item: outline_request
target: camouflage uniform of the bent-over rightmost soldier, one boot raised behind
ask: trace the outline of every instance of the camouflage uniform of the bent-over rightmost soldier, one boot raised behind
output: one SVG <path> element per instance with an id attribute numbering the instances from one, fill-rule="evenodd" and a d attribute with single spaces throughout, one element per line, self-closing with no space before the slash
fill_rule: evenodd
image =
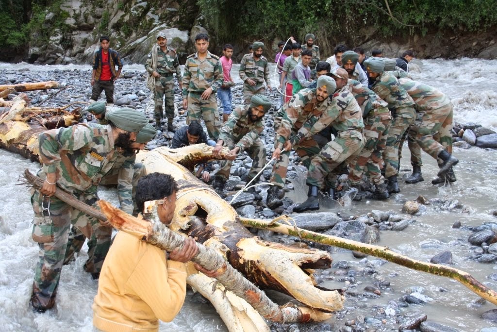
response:
<path id="1" fill-rule="evenodd" d="M 400 79 L 399 82 L 413 98 L 415 108 L 420 113 L 411 126 L 411 136 L 415 137 L 414 150 L 419 151 L 419 146 L 428 155 L 437 159 L 438 154 L 446 150 L 452 154 L 452 116 L 453 107 L 450 99 L 437 89 L 423 83 L 415 82 L 408 78 Z M 418 145 L 416 149 L 416 145 Z M 420 154 L 415 157 L 419 158 Z"/>

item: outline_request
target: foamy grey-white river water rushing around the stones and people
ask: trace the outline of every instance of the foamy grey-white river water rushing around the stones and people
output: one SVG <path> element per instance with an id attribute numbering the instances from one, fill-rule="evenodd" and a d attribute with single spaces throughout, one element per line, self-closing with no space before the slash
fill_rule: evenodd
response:
<path id="1" fill-rule="evenodd" d="M 39 72 L 54 69 L 90 71 L 89 65 L 0 64 L 1 70 L 23 68 Z M 455 106 L 456 121 L 478 122 L 484 126 L 497 127 L 496 60 L 415 60 L 412 68 L 415 80 L 435 86 L 450 96 Z M 126 70 L 143 71 L 143 66 L 125 66 L 124 71 Z M 238 66 L 234 66 L 235 80 L 238 80 L 237 70 Z M 468 208 L 467 211 L 448 212 L 428 206 L 424 215 L 413 217 L 416 222 L 406 230 L 382 231 L 379 245 L 424 261 L 429 261 L 434 254 L 442 250 L 450 250 L 454 267 L 470 272 L 478 280 L 487 282 L 491 288 L 497 290 L 497 283 L 486 278 L 497 272 L 497 265 L 477 263 L 468 259 L 472 250 L 466 239 L 472 232 L 451 227 L 456 221 L 471 226 L 497 221 L 496 217 L 491 215 L 491 212 L 497 209 L 497 151 L 455 148 L 454 155 L 460 159 L 460 163 L 455 167 L 458 181 L 452 186 L 435 187 L 430 184 L 430 180 L 436 176 L 437 167 L 424 153 L 422 171 L 425 181 L 414 185 L 406 185 L 400 181 L 400 186 L 402 194 L 408 199 L 415 199 L 420 194 L 428 199 L 457 199 Z M 411 167 L 409 157 L 409 150 L 405 148 L 401 168 Z M 0 207 L 0 331 L 92 331 L 91 305 L 97 282 L 91 280 L 82 268 L 86 259 L 86 247 L 76 262 L 64 266 L 62 270 L 56 309 L 45 314 L 33 314 L 29 310 L 28 302 L 34 266 L 38 259 L 38 247 L 31 240 L 33 213 L 29 192 L 24 186 L 17 185 L 17 179 L 25 168 L 35 171 L 39 165 L 4 150 L 0 150 L 0 163 L 3 166 L 0 169 L 0 197 L 3 203 Z M 410 172 L 401 172 L 401 175 L 405 173 Z M 299 192 L 303 190 L 301 186 L 297 188 Z M 99 195 L 116 202 L 113 190 L 100 191 Z M 400 213 L 402 203 L 394 199 L 382 202 L 353 202 L 350 207 L 340 212 L 343 215 L 359 215 L 372 209 Z M 354 267 L 363 267 L 359 264 L 359 259 L 352 258 L 350 253 L 333 254 L 333 259 L 354 261 L 355 263 L 351 263 Z M 426 288 L 425 294 L 434 301 L 404 308 L 403 315 L 426 313 L 428 320 L 461 331 L 479 332 L 484 327 L 497 327 L 497 324 L 480 318 L 483 312 L 496 309 L 496 306 L 486 303 L 479 308 L 469 307 L 478 297 L 458 282 L 412 271 L 394 263 L 386 263 L 377 267 L 377 270 L 380 272 L 379 278 L 391 282 L 393 292 L 384 291 L 379 299 L 368 300 L 365 302 L 365 308 L 351 310 L 346 318 L 354 319 L 357 315 L 372 316 L 373 306 L 386 307 L 389 300 L 397 300 L 403 295 L 401 290 L 410 286 L 423 286 Z M 366 285 L 368 284 L 359 285 L 358 290 L 362 290 Z M 338 283 L 337 286 L 343 287 L 344 284 Z M 447 291 L 440 292 L 440 287 Z M 333 322 L 332 320 L 330 323 Z M 196 303 L 189 294 L 180 314 L 172 323 L 162 323 L 161 331 L 227 330 L 211 305 Z"/>

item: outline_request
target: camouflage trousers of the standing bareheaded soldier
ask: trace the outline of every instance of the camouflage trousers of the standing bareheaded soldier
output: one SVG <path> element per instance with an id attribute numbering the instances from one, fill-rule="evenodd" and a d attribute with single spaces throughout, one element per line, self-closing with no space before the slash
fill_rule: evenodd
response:
<path id="1" fill-rule="evenodd" d="M 221 121 L 219 120 L 219 110 L 217 108 L 216 94 L 211 93 L 208 99 L 200 98 L 200 93 L 188 92 L 188 112 L 186 114 L 186 124 L 204 119 L 207 133 L 213 141 L 217 141 L 221 131 Z"/>

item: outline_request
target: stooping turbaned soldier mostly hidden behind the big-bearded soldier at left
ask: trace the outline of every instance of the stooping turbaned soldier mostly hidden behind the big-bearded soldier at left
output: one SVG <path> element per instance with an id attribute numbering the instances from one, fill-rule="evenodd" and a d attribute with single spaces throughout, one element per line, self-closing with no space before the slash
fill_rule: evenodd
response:
<path id="1" fill-rule="evenodd" d="M 132 215 L 134 211 L 134 188 L 140 177 L 145 175 L 145 167 L 141 163 L 136 163 L 136 154 L 143 150 L 147 142 L 156 135 L 157 130 L 151 124 L 146 124 L 136 135 L 136 141 L 131 144 L 130 149 L 119 154 L 112 169 L 100 181 L 100 184 L 103 185 L 117 184 L 117 197 L 121 210 L 128 214 Z M 64 265 L 69 264 L 74 259 L 76 252 L 80 252 L 85 240 L 83 232 L 73 226 L 69 234 Z M 95 246 L 94 239 L 88 243 L 88 256 L 93 255 Z"/>

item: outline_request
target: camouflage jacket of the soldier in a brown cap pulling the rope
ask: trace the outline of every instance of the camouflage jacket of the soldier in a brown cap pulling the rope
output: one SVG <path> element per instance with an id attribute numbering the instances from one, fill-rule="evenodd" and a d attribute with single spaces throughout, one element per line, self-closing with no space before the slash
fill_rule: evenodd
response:
<path id="1" fill-rule="evenodd" d="M 300 128 L 297 136 L 299 139 L 313 137 L 329 125 L 338 132 L 364 128 L 361 108 L 347 86 L 335 91 L 331 98 L 331 104 L 323 114 L 321 116 L 313 115 Z"/>

